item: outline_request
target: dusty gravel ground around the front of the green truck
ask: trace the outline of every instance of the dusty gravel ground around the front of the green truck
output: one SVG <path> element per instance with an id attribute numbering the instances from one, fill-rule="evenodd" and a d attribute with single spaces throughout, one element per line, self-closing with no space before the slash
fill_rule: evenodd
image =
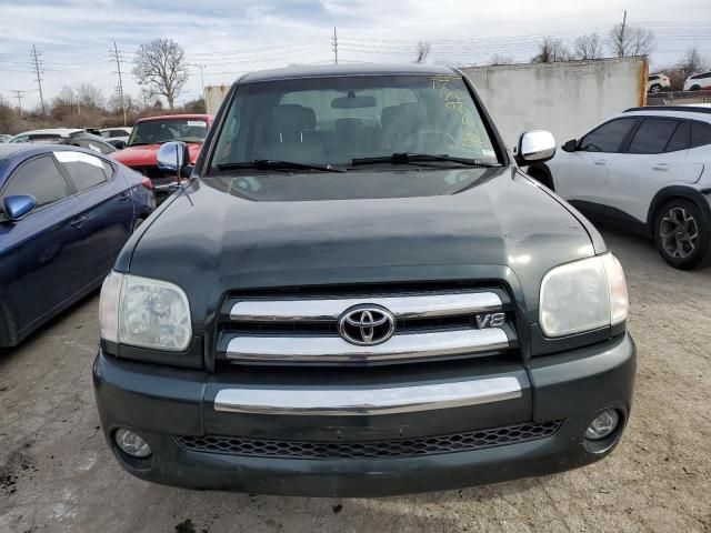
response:
<path id="1" fill-rule="evenodd" d="M 99 429 L 98 296 L 0 352 L 0 532 L 711 530 L 711 269 L 668 268 L 605 232 L 630 283 L 634 409 L 607 460 L 561 475 L 380 500 L 262 497 L 151 485 Z"/>

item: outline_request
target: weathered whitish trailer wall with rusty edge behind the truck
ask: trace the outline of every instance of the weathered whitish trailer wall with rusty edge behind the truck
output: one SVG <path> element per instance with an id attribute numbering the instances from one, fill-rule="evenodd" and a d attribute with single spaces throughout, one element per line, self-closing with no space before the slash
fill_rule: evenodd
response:
<path id="1" fill-rule="evenodd" d="M 624 109 L 647 102 L 644 58 L 464 67 L 509 148 L 525 130 L 559 144 Z"/>

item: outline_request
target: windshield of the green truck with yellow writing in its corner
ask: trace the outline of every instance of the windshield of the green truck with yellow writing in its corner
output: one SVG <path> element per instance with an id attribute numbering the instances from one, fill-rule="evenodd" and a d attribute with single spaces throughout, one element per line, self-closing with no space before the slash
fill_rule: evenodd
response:
<path id="1" fill-rule="evenodd" d="M 240 86 L 211 170 L 264 160 L 348 168 L 378 158 L 373 163 L 397 164 L 402 159 L 389 157 L 404 153 L 500 163 L 461 77 L 353 76 Z"/>

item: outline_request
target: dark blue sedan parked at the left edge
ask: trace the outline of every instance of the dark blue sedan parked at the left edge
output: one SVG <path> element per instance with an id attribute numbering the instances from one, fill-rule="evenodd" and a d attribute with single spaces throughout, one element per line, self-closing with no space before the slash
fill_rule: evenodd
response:
<path id="1" fill-rule="evenodd" d="M 156 200 L 94 151 L 0 144 L 0 346 L 12 346 L 101 285 Z"/>

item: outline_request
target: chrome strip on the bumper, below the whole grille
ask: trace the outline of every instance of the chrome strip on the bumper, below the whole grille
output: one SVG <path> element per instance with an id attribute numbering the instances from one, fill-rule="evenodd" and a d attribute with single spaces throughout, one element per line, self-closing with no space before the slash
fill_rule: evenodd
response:
<path id="1" fill-rule="evenodd" d="M 521 383 L 513 376 L 391 389 L 222 389 L 214 399 L 214 410 L 343 416 L 462 408 L 521 396 Z"/>

